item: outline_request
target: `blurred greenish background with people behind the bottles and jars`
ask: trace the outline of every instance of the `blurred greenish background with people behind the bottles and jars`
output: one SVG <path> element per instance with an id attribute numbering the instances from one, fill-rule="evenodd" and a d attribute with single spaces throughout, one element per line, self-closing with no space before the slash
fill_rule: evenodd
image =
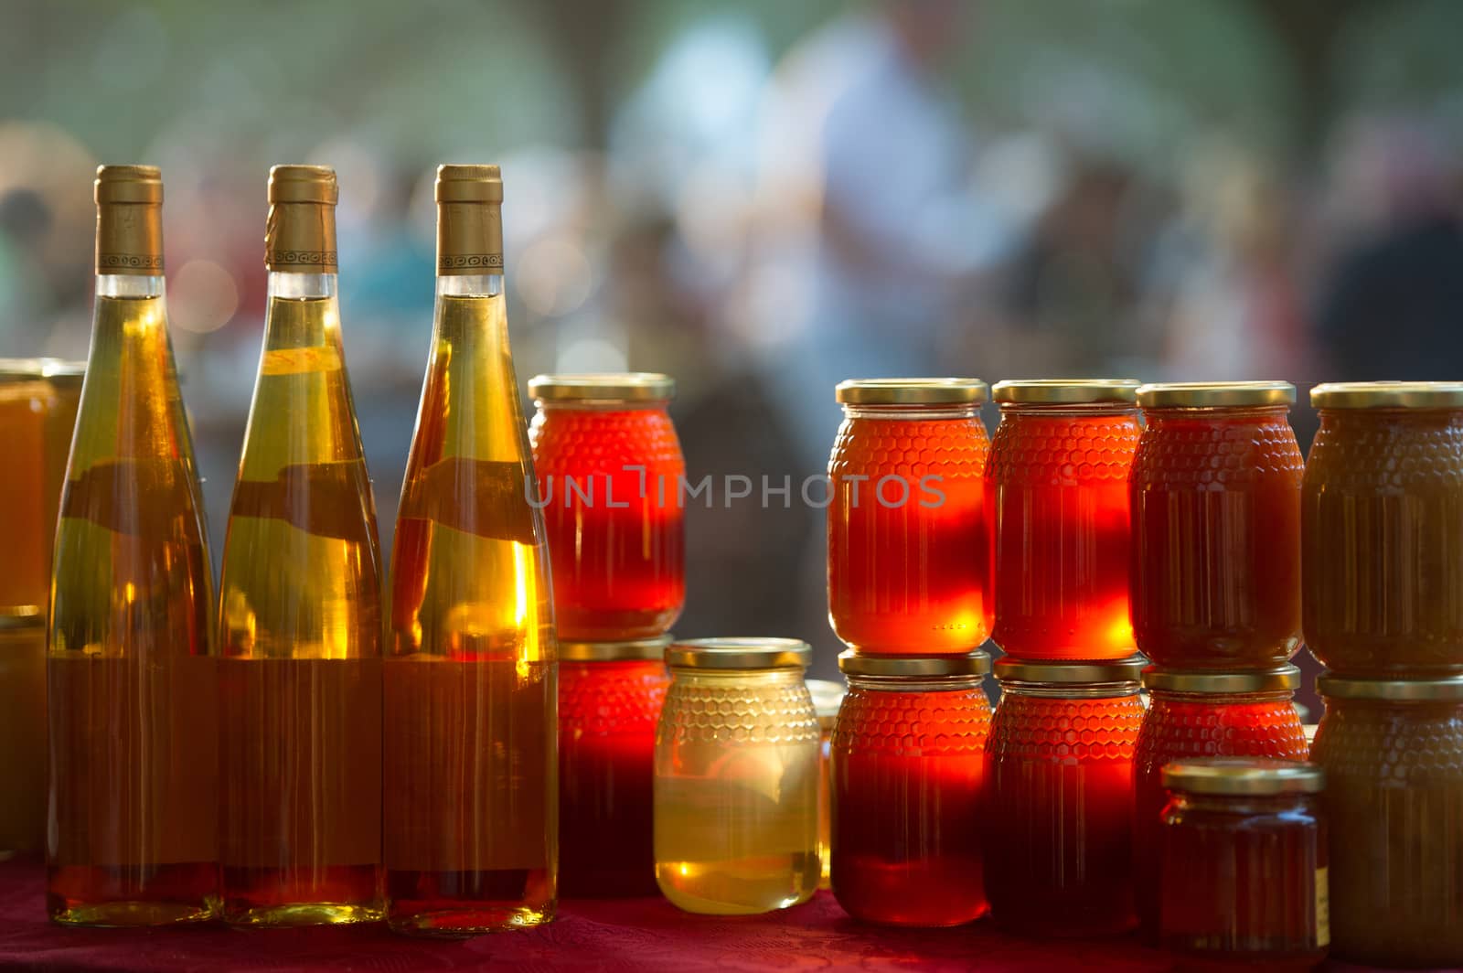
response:
<path id="1" fill-rule="evenodd" d="M 268 167 L 334 165 L 389 544 L 433 170 L 492 161 L 519 379 L 669 372 L 692 480 L 822 470 L 843 377 L 1456 379 L 1459 37 L 1453 0 L 3 0 L 0 354 L 85 357 L 94 168 L 161 165 L 218 556 Z M 756 500 L 688 512 L 676 631 L 830 673 L 822 514 Z"/>

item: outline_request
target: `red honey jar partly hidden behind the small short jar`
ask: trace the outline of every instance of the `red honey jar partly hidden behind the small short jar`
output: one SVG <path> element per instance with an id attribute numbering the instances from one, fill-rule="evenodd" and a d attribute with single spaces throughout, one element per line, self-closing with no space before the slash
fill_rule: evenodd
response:
<path id="1" fill-rule="evenodd" d="M 1167 793 L 1163 767 L 1208 756 L 1304 761 L 1305 729 L 1295 708 L 1295 666 L 1245 673 L 1143 672 L 1148 708 L 1134 761 L 1132 876 L 1143 932 L 1159 931 L 1159 821 Z"/>

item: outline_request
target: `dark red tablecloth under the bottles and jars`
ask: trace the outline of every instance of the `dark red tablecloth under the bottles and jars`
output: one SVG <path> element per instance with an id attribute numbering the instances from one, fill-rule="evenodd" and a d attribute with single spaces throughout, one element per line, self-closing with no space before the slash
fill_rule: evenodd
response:
<path id="1" fill-rule="evenodd" d="M 989 922 L 960 929 L 860 925 L 828 893 L 768 916 L 688 916 L 660 898 L 566 901 L 538 929 L 467 941 L 408 939 L 380 926 L 237 932 L 61 929 L 45 919 L 35 862 L 0 865 L 0 966 L 38 970 L 1166 970 L 1131 938 L 1028 942 Z"/>

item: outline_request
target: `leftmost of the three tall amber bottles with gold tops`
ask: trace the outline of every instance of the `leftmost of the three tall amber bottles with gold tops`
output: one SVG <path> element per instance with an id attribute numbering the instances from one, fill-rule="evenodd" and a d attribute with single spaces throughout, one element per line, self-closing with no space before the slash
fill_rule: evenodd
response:
<path id="1" fill-rule="evenodd" d="M 162 179 L 102 165 L 97 315 L 51 578 L 56 922 L 165 925 L 217 910 L 218 658 L 202 514 L 162 297 Z"/>

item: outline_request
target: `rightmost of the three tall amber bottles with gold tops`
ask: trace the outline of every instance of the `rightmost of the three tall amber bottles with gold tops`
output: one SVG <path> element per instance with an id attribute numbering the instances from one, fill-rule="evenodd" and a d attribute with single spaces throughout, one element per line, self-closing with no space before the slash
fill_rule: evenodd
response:
<path id="1" fill-rule="evenodd" d="M 392 549 L 386 920 L 553 917 L 557 653 L 503 309 L 496 165 L 437 170 L 437 303 Z"/>

